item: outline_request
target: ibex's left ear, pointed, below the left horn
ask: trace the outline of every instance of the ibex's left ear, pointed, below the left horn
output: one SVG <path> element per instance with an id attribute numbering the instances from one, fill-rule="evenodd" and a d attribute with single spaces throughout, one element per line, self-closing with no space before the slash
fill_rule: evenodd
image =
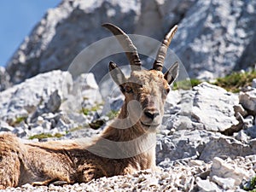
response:
<path id="1" fill-rule="evenodd" d="M 119 85 L 119 88 L 122 91 L 122 93 L 125 93 L 124 84 L 126 82 L 126 78 L 124 73 L 113 61 L 109 62 L 108 68 L 113 81 Z"/>

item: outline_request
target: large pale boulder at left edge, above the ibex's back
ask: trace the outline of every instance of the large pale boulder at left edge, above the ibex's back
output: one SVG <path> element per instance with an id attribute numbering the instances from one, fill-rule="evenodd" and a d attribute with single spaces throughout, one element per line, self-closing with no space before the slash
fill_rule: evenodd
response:
<path id="1" fill-rule="evenodd" d="M 26 79 L 0 93 L 0 119 L 15 121 L 16 117 L 26 117 L 41 103 L 49 101 L 56 90 L 65 99 L 72 87 L 73 80 L 67 72 L 52 71 Z"/>

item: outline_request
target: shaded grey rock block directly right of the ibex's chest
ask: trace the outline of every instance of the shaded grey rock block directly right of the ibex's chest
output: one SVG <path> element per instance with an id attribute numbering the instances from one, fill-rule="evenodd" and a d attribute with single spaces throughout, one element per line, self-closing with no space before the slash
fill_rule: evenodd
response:
<path id="1" fill-rule="evenodd" d="M 210 131 L 189 131 L 181 130 L 175 131 L 172 135 L 159 136 L 158 143 L 156 145 L 156 160 L 160 166 L 170 167 L 171 160 L 181 160 L 186 158 L 198 158 L 201 156 L 201 160 L 205 160 L 204 157 L 209 157 L 212 160 L 214 151 L 208 151 L 206 155 L 202 153 L 202 150 L 207 143 L 209 143 L 212 137 L 216 136 L 215 133 Z M 212 145 L 211 145 L 212 146 Z M 220 148 L 218 146 L 218 148 Z M 203 151 L 204 152 L 204 151 Z"/>

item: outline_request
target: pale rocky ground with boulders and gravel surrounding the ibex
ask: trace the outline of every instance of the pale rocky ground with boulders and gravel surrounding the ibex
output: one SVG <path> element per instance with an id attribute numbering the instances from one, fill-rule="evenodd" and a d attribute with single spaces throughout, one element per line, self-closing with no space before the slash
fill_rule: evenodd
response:
<path id="1" fill-rule="evenodd" d="M 42 142 L 94 137 L 122 104 L 119 94 L 102 99 L 97 89 L 92 73 L 26 79 L 0 92 L 0 131 Z M 3 191 L 243 191 L 256 172 L 255 106 L 255 87 L 237 94 L 208 83 L 173 90 L 157 133 L 159 172 Z"/>

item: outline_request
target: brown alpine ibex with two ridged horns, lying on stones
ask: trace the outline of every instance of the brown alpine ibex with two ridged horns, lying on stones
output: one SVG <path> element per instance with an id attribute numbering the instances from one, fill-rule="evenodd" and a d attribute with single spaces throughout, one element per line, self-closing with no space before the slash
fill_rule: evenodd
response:
<path id="1" fill-rule="evenodd" d="M 131 76 L 112 61 L 109 71 L 125 96 L 119 116 L 90 144 L 82 141 L 24 143 L 10 133 L 0 135 L 0 189 L 25 183 L 83 183 L 93 178 L 131 174 L 155 167 L 155 132 L 164 113 L 178 63 L 163 74 L 166 51 L 177 26 L 163 40 L 153 68 L 143 70 L 136 47 L 119 27 L 103 24 L 119 41 Z"/>

